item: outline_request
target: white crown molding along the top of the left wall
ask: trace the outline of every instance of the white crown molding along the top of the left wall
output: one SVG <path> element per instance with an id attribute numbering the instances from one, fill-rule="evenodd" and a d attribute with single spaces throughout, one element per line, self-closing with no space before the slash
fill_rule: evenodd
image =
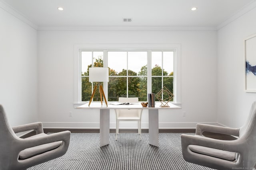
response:
<path id="1" fill-rule="evenodd" d="M 8 12 L 9 14 L 11 14 L 12 16 L 18 18 L 19 20 L 23 21 L 24 23 L 28 24 L 29 26 L 31 26 L 34 29 L 38 29 L 38 26 L 35 25 L 34 23 L 32 23 L 32 21 L 28 20 L 28 18 L 26 18 L 23 14 L 21 14 L 20 12 L 18 12 L 17 10 L 15 10 L 14 8 L 12 8 L 12 6 L 10 6 L 9 4 L 7 4 L 6 2 L 0 0 L 0 8 L 2 8 L 3 10 L 5 10 L 6 12 Z"/>

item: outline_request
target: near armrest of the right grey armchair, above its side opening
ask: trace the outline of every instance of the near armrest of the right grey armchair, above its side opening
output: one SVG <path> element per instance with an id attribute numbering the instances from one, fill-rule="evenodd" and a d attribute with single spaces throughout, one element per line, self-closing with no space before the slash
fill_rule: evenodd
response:
<path id="1" fill-rule="evenodd" d="M 181 135 L 182 148 L 187 148 L 188 145 L 198 145 L 202 147 L 208 147 L 213 149 L 226 150 L 230 152 L 243 153 L 247 149 L 246 143 L 240 139 L 233 141 L 224 141 L 219 139 L 212 139 L 202 136 L 192 136 L 192 135 Z"/>

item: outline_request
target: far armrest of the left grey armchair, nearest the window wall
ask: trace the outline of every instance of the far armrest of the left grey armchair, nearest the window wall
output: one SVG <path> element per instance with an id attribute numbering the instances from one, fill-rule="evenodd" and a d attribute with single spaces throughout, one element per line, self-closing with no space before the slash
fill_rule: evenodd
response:
<path id="1" fill-rule="evenodd" d="M 20 133 L 20 132 L 30 131 L 30 130 L 35 130 L 36 134 L 44 133 L 42 122 L 15 126 L 15 127 L 12 127 L 12 130 L 14 131 L 14 133 Z"/>

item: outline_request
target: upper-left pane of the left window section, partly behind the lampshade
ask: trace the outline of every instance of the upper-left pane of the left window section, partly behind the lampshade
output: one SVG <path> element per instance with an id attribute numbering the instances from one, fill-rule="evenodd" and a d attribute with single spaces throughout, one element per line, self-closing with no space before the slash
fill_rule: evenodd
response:
<path id="1" fill-rule="evenodd" d="M 82 76 L 88 76 L 88 66 L 92 65 L 92 51 L 81 52 Z"/>

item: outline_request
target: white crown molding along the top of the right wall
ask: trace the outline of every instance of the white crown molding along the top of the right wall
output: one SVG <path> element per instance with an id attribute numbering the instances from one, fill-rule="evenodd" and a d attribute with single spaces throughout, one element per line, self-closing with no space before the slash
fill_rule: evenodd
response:
<path id="1" fill-rule="evenodd" d="M 244 6 L 241 10 L 239 10 L 238 12 L 236 12 L 234 15 L 230 16 L 227 20 L 225 20 L 224 22 L 222 22 L 220 25 L 217 26 L 217 30 L 221 29 L 222 27 L 225 27 L 226 25 L 228 25 L 229 23 L 237 20 L 238 18 L 240 18 L 241 16 L 243 16 L 244 14 L 250 12 L 251 10 L 253 10 L 256 7 L 256 0 L 250 2 L 249 4 L 247 4 L 246 6 Z"/>

